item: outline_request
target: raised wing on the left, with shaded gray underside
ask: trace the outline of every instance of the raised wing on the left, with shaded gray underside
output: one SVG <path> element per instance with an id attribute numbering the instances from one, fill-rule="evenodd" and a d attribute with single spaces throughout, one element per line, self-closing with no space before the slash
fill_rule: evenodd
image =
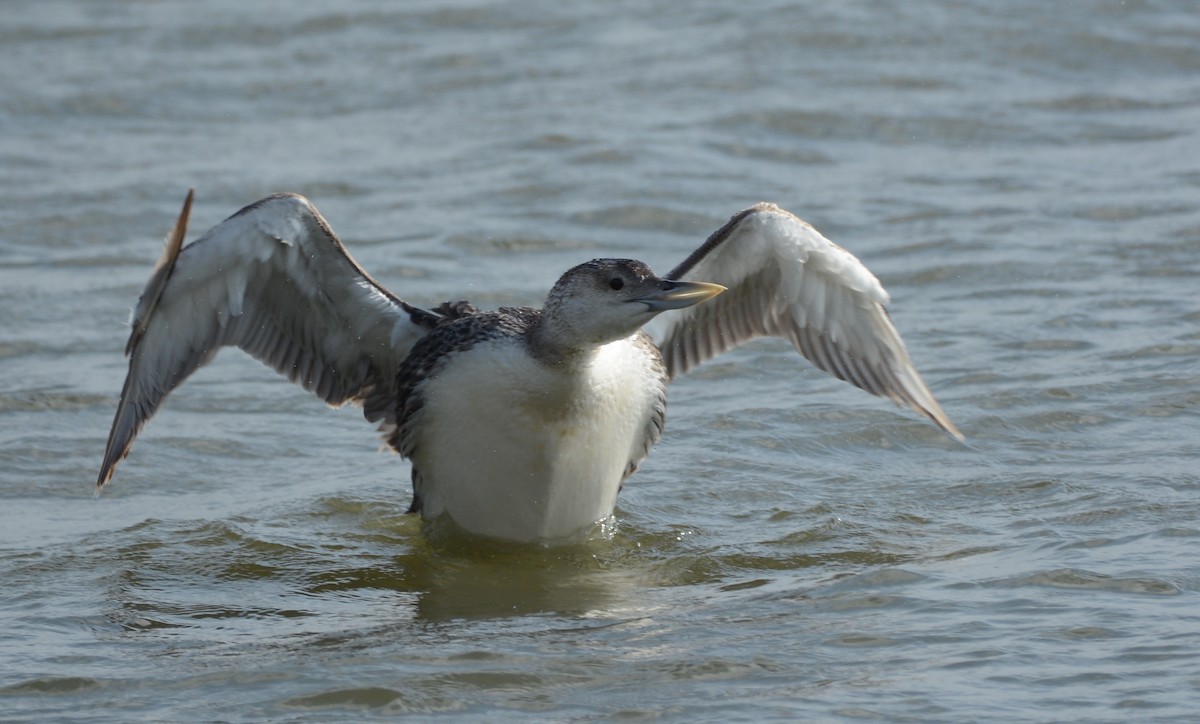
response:
<path id="1" fill-rule="evenodd" d="M 191 203 L 188 191 L 133 311 L 97 490 L 170 390 L 223 346 L 392 425 L 396 370 L 438 321 L 372 280 L 301 196 L 264 198 L 184 247 Z"/>

